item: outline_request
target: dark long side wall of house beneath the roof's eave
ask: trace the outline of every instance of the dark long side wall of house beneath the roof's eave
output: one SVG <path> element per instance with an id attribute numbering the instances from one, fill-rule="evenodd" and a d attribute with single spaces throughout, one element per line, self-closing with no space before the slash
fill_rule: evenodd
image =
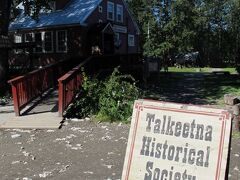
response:
<path id="1" fill-rule="evenodd" d="M 67 52 L 57 52 L 57 31 L 65 30 L 67 32 Z M 62 27 L 62 28 L 48 28 L 48 29 L 35 29 L 35 30 L 24 30 L 18 32 L 22 35 L 22 42 L 25 43 L 25 34 L 27 33 L 39 33 L 39 32 L 52 32 L 53 33 L 53 52 L 35 52 L 33 50 L 32 59 L 33 66 L 45 66 L 74 56 L 85 56 L 86 55 L 86 33 L 87 28 L 81 26 L 74 27 Z M 14 36 L 14 32 L 11 33 Z M 29 62 L 29 53 L 27 49 L 21 50 L 16 53 L 16 50 L 10 52 L 10 65 L 21 66 Z"/>

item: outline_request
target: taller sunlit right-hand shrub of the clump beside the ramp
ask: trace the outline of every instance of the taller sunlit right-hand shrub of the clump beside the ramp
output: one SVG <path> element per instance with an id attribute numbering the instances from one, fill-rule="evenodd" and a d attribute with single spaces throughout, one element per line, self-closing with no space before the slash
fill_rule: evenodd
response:
<path id="1" fill-rule="evenodd" d="M 134 100 L 138 97 L 139 90 L 133 77 L 121 75 L 118 69 L 114 69 L 112 75 L 103 83 L 97 118 L 126 121 L 131 116 Z"/>

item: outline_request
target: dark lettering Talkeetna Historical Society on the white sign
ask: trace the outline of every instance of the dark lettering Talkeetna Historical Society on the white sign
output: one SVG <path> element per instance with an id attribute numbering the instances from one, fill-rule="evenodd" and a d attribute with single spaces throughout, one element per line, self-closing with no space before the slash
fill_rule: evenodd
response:
<path id="1" fill-rule="evenodd" d="M 195 120 L 192 120 L 191 123 L 176 122 L 172 120 L 171 116 L 166 115 L 163 115 L 161 119 L 155 119 L 155 114 L 148 113 L 146 121 L 146 132 L 200 141 L 212 141 L 213 127 L 196 124 Z M 169 144 L 167 140 L 165 142 L 157 142 L 154 137 L 143 136 L 140 155 L 161 158 L 163 160 L 167 159 L 173 162 L 182 162 L 188 165 L 208 167 L 210 147 L 207 146 L 206 149 L 194 149 L 190 148 L 188 143 L 184 146 L 175 146 L 174 144 Z M 187 174 L 186 169 L 182 173 L 174 172 L 174 166 L 172 166 L 170 170 L 155 168 L 153 172 L 153 167 L 154 162 L 148 161 L 146 164 L 145 180 L 159 179 L 160 175 L 160 179 L 168 177 L 168 179 L 196 180 L 196 176 Z"/>

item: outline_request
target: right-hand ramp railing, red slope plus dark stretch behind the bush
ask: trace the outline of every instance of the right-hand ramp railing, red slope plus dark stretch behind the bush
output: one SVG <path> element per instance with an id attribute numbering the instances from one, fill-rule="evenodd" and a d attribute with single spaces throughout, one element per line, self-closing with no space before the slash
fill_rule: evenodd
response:
<path id="1" fill-rule="evenodd" d="M 104 55 L 104 56 L 91 56 L 84 62 L 73 68 L 67 74 L 58 79 L 58 111 L 59 116 L 63 116 L 64 110 L 74 99 L 76 93 L 82 85 L 82 71 L 89 75 L 94 75 L 107 69 L 113 69 L 116 66 L 121 65 L 125 70 L 131 66 L 131 70 L 134 70 L 134 66 L 141 64 L 139 54 L 127 54 L 127 55 Z M 130 70 L 130 69 L 129 69 Z"/>

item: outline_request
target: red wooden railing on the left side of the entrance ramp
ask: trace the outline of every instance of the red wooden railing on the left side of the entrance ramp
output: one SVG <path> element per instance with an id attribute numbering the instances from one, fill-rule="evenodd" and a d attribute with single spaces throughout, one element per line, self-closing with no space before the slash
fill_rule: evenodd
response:
<path id="1" fill-rule="evenodd" d="M 64 73 L 64 63 L 65 61 L 60 61 L 8 81 L 12 87 L 16 116 L 20 116 L 21 109 L 34 98 L 53 87 L 54 84 L 57 84 L 58 77 Z"/>

